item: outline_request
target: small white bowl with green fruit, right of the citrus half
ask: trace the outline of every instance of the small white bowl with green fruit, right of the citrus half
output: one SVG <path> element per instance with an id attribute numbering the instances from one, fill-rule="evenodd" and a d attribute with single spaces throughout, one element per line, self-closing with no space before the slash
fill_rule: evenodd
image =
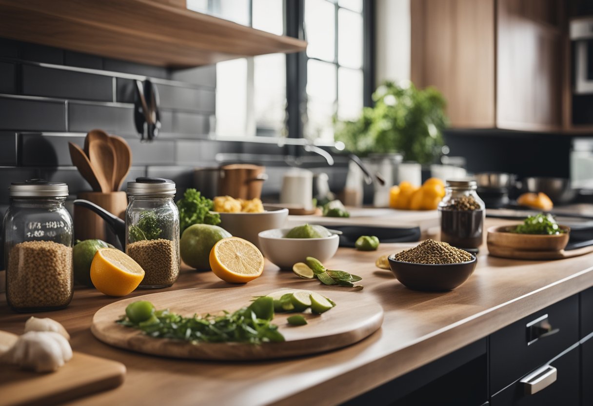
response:
<path id="1" fill-rule="evenodd" d="M 259 233 L 263 256 L 282 269 L 292 269 L 297 262 L 313 256 L 324 262 L 336 255 L 340 239 L 336 234 L 323 238 L 285 238 L 291 229 L 273 229 Z"/>

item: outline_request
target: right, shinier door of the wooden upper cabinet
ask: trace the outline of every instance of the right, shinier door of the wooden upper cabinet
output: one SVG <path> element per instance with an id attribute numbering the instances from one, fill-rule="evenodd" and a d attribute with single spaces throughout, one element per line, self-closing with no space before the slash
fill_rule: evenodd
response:
<path id="1" fill-rule="evenodd" d="M 498 0 L 496 126 L 547 131 L 562 125 L 562 4 Z"/>

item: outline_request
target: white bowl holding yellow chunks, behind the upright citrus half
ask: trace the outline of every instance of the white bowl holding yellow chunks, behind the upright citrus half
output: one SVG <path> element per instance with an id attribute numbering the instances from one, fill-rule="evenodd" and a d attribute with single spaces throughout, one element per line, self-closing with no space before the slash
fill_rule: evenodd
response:
<path id="1" fill-rule="evenodd" d="M 218 226 L 235 237 L 246 239 L 260 248 L 257 234 L 260 231 L 278 229 L 284 226 L 288 218 L 288 209 L 269 210 L 263 213 L 218 213 L 221 223 Z"/>

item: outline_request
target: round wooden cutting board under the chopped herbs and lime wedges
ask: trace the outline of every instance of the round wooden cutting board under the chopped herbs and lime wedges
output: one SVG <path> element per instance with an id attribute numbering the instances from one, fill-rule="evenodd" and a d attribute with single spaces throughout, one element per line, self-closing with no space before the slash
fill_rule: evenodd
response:
<path id="1" fill-rule="evenodd" d="M 282 289 L 287 292 L 294 289 Z M 241 287 L 216 289 L 185 289 L 146 294 L 111 303 L 97 311 L 91 331 L 99 340 L 115 347 L 155 356 L 199 360 L 264 360 L 322 353 L 346 347 L 368 337 L 381 327 L 383 309 L 365 297 L 364 291 L 326 289 L 318 293 L 329 297 L 336 307 L 321 315 L 304 313 L 308 324 L 291 326 L 286 322 L 295 313 L 276 313 L 273 323 L 279 326 L 285 342 L 262 345 L 243 343 L 202 343 L 152 338 L 141 331 L 116 323 L 125 314 L 126 306 L 136 300 L 149 300 L 157 309 L 170 309 L 184 316 L 194 313 L 234 312 L 248 306 L 253 296 L 271 294 L 262 288 Z"/>

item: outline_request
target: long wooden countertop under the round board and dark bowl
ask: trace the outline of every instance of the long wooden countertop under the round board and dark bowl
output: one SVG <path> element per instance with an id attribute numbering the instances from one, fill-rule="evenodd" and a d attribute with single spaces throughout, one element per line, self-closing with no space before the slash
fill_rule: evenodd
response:
<path id="1" fill-rule="evenodd" d="M 508 221 L 487 219 L 487 226 Z M 114 302 L 89 288 L 75 290 L 65 310 L 40 313 L 68 329 L 72 347 L 95 356 L 118 360 L 127 367 L 122 386 L 72 404 L 337 404 L 356 397 L 410 370 L 438 359 L 489 335 L 509 323 L 593 286 L 593 254 L 562 261 L 517 261 L 487 256 L 484 248 L 476 271 L 454 291 L 422 293 L 398 283 L 389 271 L 375 267 L 375 259 L 403 245 L 387 245 L 378 252 L 340 248 L 328 262 L 334 269 L 361 275 L 364 290 L 352 300 L 371 296 L 385 310 L 382 328 L 366 340 L 320 356 L 249 363 L 180 361 L 144 356 L 109 347 L 91 335 L 94 312 Z M 262 277 L 250 283 L 263 291 L 279 286 L 331 291 L 337 287 L 300 280 L 292 272 L 266 265 Z M 189 287 L 228 287 L 211 272 L 185 270 L 169 290 Z M 344 289 L 344 288 L 339 288 Z M 139 296 L 152 293 L 140 290 Z M 0 328 L 21 332 L 30 315 L 12 313 L 0 302 Z M 347 384 L 345 384 L 347 382 Z"/>

